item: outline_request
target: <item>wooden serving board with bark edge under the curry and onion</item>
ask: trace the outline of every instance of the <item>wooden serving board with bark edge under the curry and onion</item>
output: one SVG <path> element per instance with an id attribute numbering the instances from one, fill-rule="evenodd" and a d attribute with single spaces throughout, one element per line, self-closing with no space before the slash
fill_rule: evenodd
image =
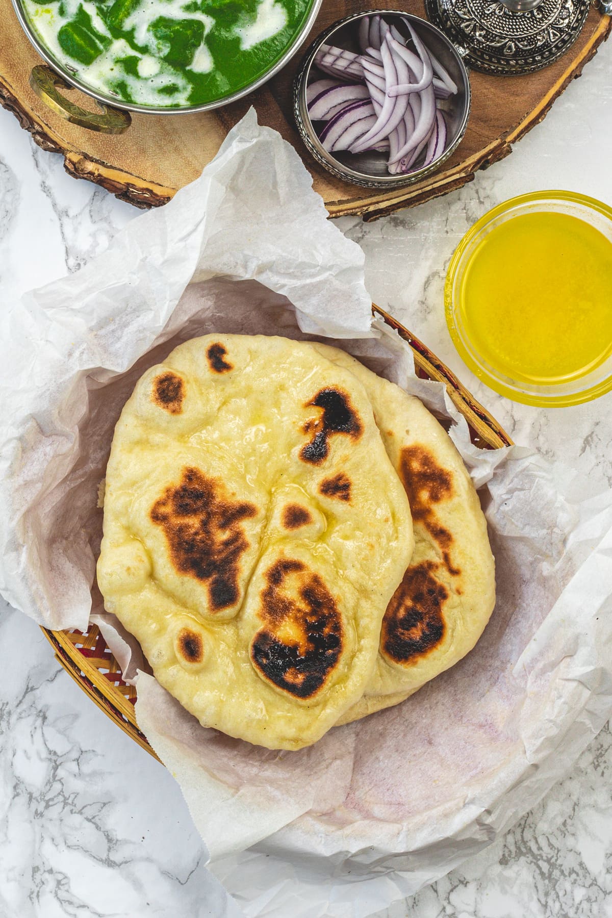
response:
<path id="1" fill-rule="evenodd" d="M 279 130 L 302 156 L 332 217 L 362 214 L 372 220 L 460 188 L 478 169 L 507 156 L 512 144 L 538 124 L 567 84 L 580 76 L 612 28 L 612 18 L 591 7 L 573 48 L 545 70 L 513 77 L 472 72 L 472 114 L 451 159 L 439 173 L 417 185 L 377 191 L 339 181 L 312 159 L 295 129 L 291 100 L 295 72 L 309 41 L 336 19 L 372 6 L 372 0 L 323 0 L 303 48 L 257 92 L 196 115 L 134 115 L 128 131 L 117 137 L 69 124 L 33 93 L 29 73 L 41 59 L 20 28 L 11 0 L 0 0 L 0 103 L 15 113 L 40 147 L 62 153 L 66 170 L 75 178 L 103 185 L 137 207 L 165 204 L 178 188 L 193 181 L 215 156 L 228 130 L 254 105 L 260 123 Z M 425 16 L 422 0 L 401 0 L 389 6 Z M 74 91 L 70 98 L 95 110 L 94 102 L 82 93 Z"/>

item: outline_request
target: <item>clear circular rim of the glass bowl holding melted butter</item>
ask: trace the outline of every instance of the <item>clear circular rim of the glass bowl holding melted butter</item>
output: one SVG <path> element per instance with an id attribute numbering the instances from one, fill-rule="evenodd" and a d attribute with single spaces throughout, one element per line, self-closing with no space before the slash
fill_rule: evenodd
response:
<path id="1" fill-rule="evenodd" d="M 584 402 L 592 401 L 595 398 L 605 395 L 606 392 L 611 391 L 612 373 L 609 373 L 606 378 L 600 380 L 595 385 L 577 389 L 573 392 L 560 393 L 558 391 L 558 386 L 540 386 L 538 391 L 535 391 L 534 386 L 534 391 L 530 391 L 528 384 L 522 384 L 518 381 L 515 385 L 509 385 L 500 379 L 498 375 L 495 375 L 495 371 L 489 371 L 486 368 L 484 365 L 485 362 L 479 357 L 474 347 L 473 350 L 470 350 L 469 347 L 466 346 L 464 336 L 462 336 L 456 321 L 456 310 L 459 306 L 455 294 L 457 275 L 462 270 L 466 255 L 470 251 L 475 239 L 484 229 L 487 229 L 496 218 L 506 216 L 510 211 L 529 204 L 537 204 L 540 202 L 546 204 L 551 201 L 581 205 L 588 210 L 595 211 L 606 218 L 612 229 L 612 207 L 608 207 L 603 201 L 599 201 L 595 197 L 581 195 L 578 192 L 556 189 L 551 191 L 536 191 L 528 195 L 511 197 L 502 204 L 487 211 L 483 217 L 477 220 L 473 226 L 468 229 L 462 241 L 453 252 L 444 285 L 444 312 L 452 342 L 461 356 L 463 363 L 466 364 L 470 370 L 472 370 L 473 374 L 481 379 L 487 386 L 492 388 L 499 395 L 524 405 L 547 408 L 568 408 L 573 405 L 580 405 Z M 576 382 L 579 381 L 577 380 Z M 542 392 L 542 388 L 546 388 L 547 393 Z M 548 394 L 548 390 L 550 390 L 550 395 Z"/>

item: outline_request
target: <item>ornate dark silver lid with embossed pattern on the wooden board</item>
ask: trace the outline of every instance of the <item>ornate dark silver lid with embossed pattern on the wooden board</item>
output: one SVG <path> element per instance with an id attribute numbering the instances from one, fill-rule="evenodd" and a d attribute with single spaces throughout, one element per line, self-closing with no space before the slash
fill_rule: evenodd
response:
<path id="1" fill-rule="evenodd" d="M 580 35 L 589 0 L 425 0 L 425 7 L 474 70 L 510 76 L 557 61 Z"/>

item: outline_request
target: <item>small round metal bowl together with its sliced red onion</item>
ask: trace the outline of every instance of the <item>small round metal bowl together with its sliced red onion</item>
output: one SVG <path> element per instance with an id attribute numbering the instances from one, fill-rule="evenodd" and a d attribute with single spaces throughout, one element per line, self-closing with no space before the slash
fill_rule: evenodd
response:
<path id="1" fill-rule="evenodd" d="M 366 51 L 366 46 L 369 44 L 368 35 L 372 39 L 372 29 L 378 35 L 379 28 L 384 29 L 381 33 L 382 40 L 380 38 L 374 40 L 373 48 Z M 389 33 L 386 36 L 387 40 L 395 39 L 392 44 L 400 55 L 399 58 L 395 58 L 397 68 L 393 62 L 389 65 L 391 72 L 394 73 L 393 84 L 390 84 L 388 78 L 388 60 L 385 60 L 380 54 L 381 50 L 386 50 L 383 45 L 387 32 Z M 334 54 L 336 60 L 333 59 Z M 363 66 L 364 54 L 367 59 L 365 60 L 366 71 L 368 65 L 378 68 L 376 72 L 373 71 L 372 77 L 367 72 L 365 75 L 363 72 L 360 72 L 361 75 L 358 73 L 359 68 Z M 374 59 L 372 55 L 375 56 Z M 417 58 L 420 58 L 420 64 Z M 428 80 L 429 58 L 433 62 L 433 76 L 429 73 Z M 425 59 L 428 59 L 427 64 L 424 63 Z M 410 65 L 404 63 L 405 61 Z M 420 72 L 419 66 L 421 67 Z M 400 73 L 401 68 L 405 68 L 404 79 Z M 369 108 L 369 117 L 361 122 L 362 125 L 369 127 L 369 133 L 362 134 L 361 138 L 353 140 L 352 151 L 351 149 L 338 149 L 341 143 L 337 144 L 335 149 L 330 149 L 330 146 L 333 146 L 328 142 L 330 126 L 325 119 L 315 117 L 321 114 L 320 103 L 319 108 L 313 106 L 313 97 L 314 94 L 317 94 L 317 87 L 320 86 L 325 92 L 326 85 L 323 81 L 327 80 L 328 84 L 331 84 L 334 79 L 337 79 L 339 83 L 344 82 L 347 91 L 349 81 L 352 81 L 352 85 L 356 87 L 353 92 L 359 96 L 354 103 L 349 98 L 348 106 L 345 106 L 348 114 L 345 116 L 344 113 L 341 113 L 343 117 L 356 118 L 357 115 L 361 117 L 362 112 L 368 110 L 366 106 L 370 106 L 371 103 L 373 106 Z M 370 82 L 371 79 L 373 84 Z M 425 119 L 424 130 L 429 129 L 429 140 L 427 138 L 423 140 L 422 130 L 419 133 L 419 112 L 424 111 L 425 106 L 429 105 L 429 96 L 425 98 L 425 95 L 421 95 L 419 90 L 425 86 L 425 94 L 430 94 L 430 98 L 433 99 L 432 84 L 435 87 L 436 96 L 435 118 L 438 118 L 438 123 L 440 123 L 440 142 L 438 144 L 436 143 L 438 135 L 434 133 L 438 130 L 436 123 L 431 129 L 428 119 Z M 370 94 L 376 95 L 367 95 L 365 87 Z M 332 86 L 332 89 L 336 92 L 335 85 Z M 323 98 L 324 96 L 319 95 L 318 97 Z M 411 99 L 413 100 L 410 102 L 412 115 L 408 109 L 408 101 Z M 387 126 L 393 125 L 399 115 L 400 106 L 394 107 L 395 100 L 397 102 L 403 100 L 405 107 L 402 110 L 406 112 L 403 118 L 406 118 L 406 121 L 408 117 L 411 119 L 407 128 L 407 140 L 404 120 L 399 125 L 404 132 L 400 140 L 396 138 L 398 129 L 394 129 L 393 140 L 384 136 L 383 123 L 387 108 L 392 112 L 392 120 L 387 121 Z M 318 36 L 307 50 L 305 61 L 297 74 L 294 86 L 295 121 L 308 151 L 320 165 L 337 178 L 368 188 L 413 185 L 439 169 L 462 141 L 470 115 L 470 104 L 470 78 L 459 51 L 439 28 L 432 26 L 425 19 L 403 13 L 400 10 L 369 10 L 335 22 Z M 417 108 L 415 108 L 416 105 Z M 339 112 L 339 106 L 329 111 L 331 117 L 335 118 Z M 327 117 L 329 113 L 324 114 Z M 433 117 L 433 112 L 431 114 Z M 421 121 L 423 121 L 422 118 Z M 410 149 L 410 125 L 415 139 L 413 149 Z M 423 125 L 421 124 L 420 127 L 422 128 Z M 351 124 L 352 137 L 357 130 L 359 127 Z M 351 137 L 351 133 L 345 134 L 344 137 Z M 372 142 L 376 141 L 375 149 L 360 150 L 360 143 L 362 147 L 364 146 L 363 138 L 366 141 L 368 138 Z M 391 153 L 389 152 L 390 140 Z M 417 140 L 421 142 L 417 143 Z M 402 143 L 404 143 L 403 146 Z M 400 160 L 394 163 L 392 161 L 398 148 L 399 152 L 403 149 L 408 149 L 409 152 L 404 158 L 400 157 Z M 415 153 L 417 153 L 416 156 Z"/>

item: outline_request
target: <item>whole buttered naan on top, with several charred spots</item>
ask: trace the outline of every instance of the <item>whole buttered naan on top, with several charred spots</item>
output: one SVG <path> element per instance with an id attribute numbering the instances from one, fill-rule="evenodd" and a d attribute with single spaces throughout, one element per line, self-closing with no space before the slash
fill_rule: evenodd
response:
<path id="1" fill-rule="evenodd" d="M 362 697 L 414 539 L 349 370 L 283 338 L 186 342 L 123 409 L 104 511 L 106 609 L 202 724 L 299 749 Z"/>

